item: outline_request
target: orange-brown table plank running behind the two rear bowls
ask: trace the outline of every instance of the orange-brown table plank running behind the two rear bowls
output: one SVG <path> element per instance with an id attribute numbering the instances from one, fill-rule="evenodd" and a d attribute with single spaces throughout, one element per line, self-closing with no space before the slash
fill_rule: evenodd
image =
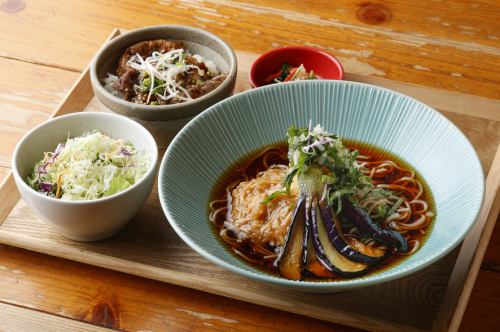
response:
<path id="1" fill-rule="evenodd" d="M 374 6 L 376 14 L 390 13 L 380 25 L 357 17 L 363 5 L 347 0 L 327 6 L 320 0 L 28 1 L 15 15 L 0 13 L 2 31 L 14 31 L 3 36 L 0 54 L 81 71 L 112 28 L 173 23 L 206 29 L 247 52 L 312 45 L 338 56 L 350 72 L 500 96 L 498 2 L 384 2 Z"/>

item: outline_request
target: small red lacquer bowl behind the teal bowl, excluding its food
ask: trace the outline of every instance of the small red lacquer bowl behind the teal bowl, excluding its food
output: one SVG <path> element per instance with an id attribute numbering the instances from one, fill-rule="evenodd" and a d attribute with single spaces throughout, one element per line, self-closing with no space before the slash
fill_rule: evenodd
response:
<path id="1" fill-rule="evenodd" d="M 314 47 L 287 46 L 264 53 L 254 61 L 250 69 L 252 87 L 266 85 L 266 78 L 276 73 L 284 62 L 294 67 L 304 64 L 306 70 L 313 70 L 318 79 L 344 79 L 344 68 L 332 55 Z"/>

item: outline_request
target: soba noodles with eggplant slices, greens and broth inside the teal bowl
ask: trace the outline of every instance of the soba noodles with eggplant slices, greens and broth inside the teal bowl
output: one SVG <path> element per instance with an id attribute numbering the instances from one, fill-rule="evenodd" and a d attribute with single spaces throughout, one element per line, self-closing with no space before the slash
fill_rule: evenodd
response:
<path id="1" fill-rule="evenodd" d="M 237 255 L 288 279 L 337 279 L 418 250 L 434 213 L 413 170 L 319 126 L 288 134 L 214 193 L 210 221 Z"/>

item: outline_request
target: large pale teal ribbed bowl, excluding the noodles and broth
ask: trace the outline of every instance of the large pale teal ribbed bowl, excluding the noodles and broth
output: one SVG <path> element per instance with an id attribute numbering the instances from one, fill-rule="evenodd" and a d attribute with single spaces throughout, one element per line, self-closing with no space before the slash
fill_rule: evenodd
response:
<path id="1" fill-rule="evenodd" d="M 393 152 L 420 172 L 437 210 L 434 227 L 420 250 L 382 272 L 315 283 L 266 274 L 223 247 L 208 221 L 214 183 L 234 161 L 283 141 L 291 124 L 307 126 L 309 119 L 345 138 Z M 392 280 L 436 261 L 471 228 L 483 192 L 483 171 L 474 149 L 444 116 L 405 95 L 346 81 L 278 84 L 219 102 L 175 137 L 159 178 L 160 201 L 170 225 L 199 254 L 249 278 L 315 292 Z"/>

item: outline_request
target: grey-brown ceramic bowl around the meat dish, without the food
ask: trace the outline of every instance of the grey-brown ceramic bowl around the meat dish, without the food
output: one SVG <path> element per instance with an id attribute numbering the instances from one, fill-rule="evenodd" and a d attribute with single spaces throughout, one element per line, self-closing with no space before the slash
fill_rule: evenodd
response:
<path id="1" fill-rule="evenodd" d="M 191 53 L 200 54 L 215 62 L 219 71 L 227 74 L 227 78 L 210 93 L 192 101 L 174 105 L 136 104 L 109 93 L 104 88 L 103 79 L 107 73 L 115 73 L 118 60 L 125 49 L 135 43 L 153 39 L 182 41 Z M 219 37 L 193 27 L 158 25 L 133 30 L 113 38 L 104 45 L 90 65 L 90 79 L 97 98 L 116 113 L 148 121 L 178 121 L 192 118 L 209 106 L 230 96 L 236 83 L 236 69 L 236 54 Z"/>

